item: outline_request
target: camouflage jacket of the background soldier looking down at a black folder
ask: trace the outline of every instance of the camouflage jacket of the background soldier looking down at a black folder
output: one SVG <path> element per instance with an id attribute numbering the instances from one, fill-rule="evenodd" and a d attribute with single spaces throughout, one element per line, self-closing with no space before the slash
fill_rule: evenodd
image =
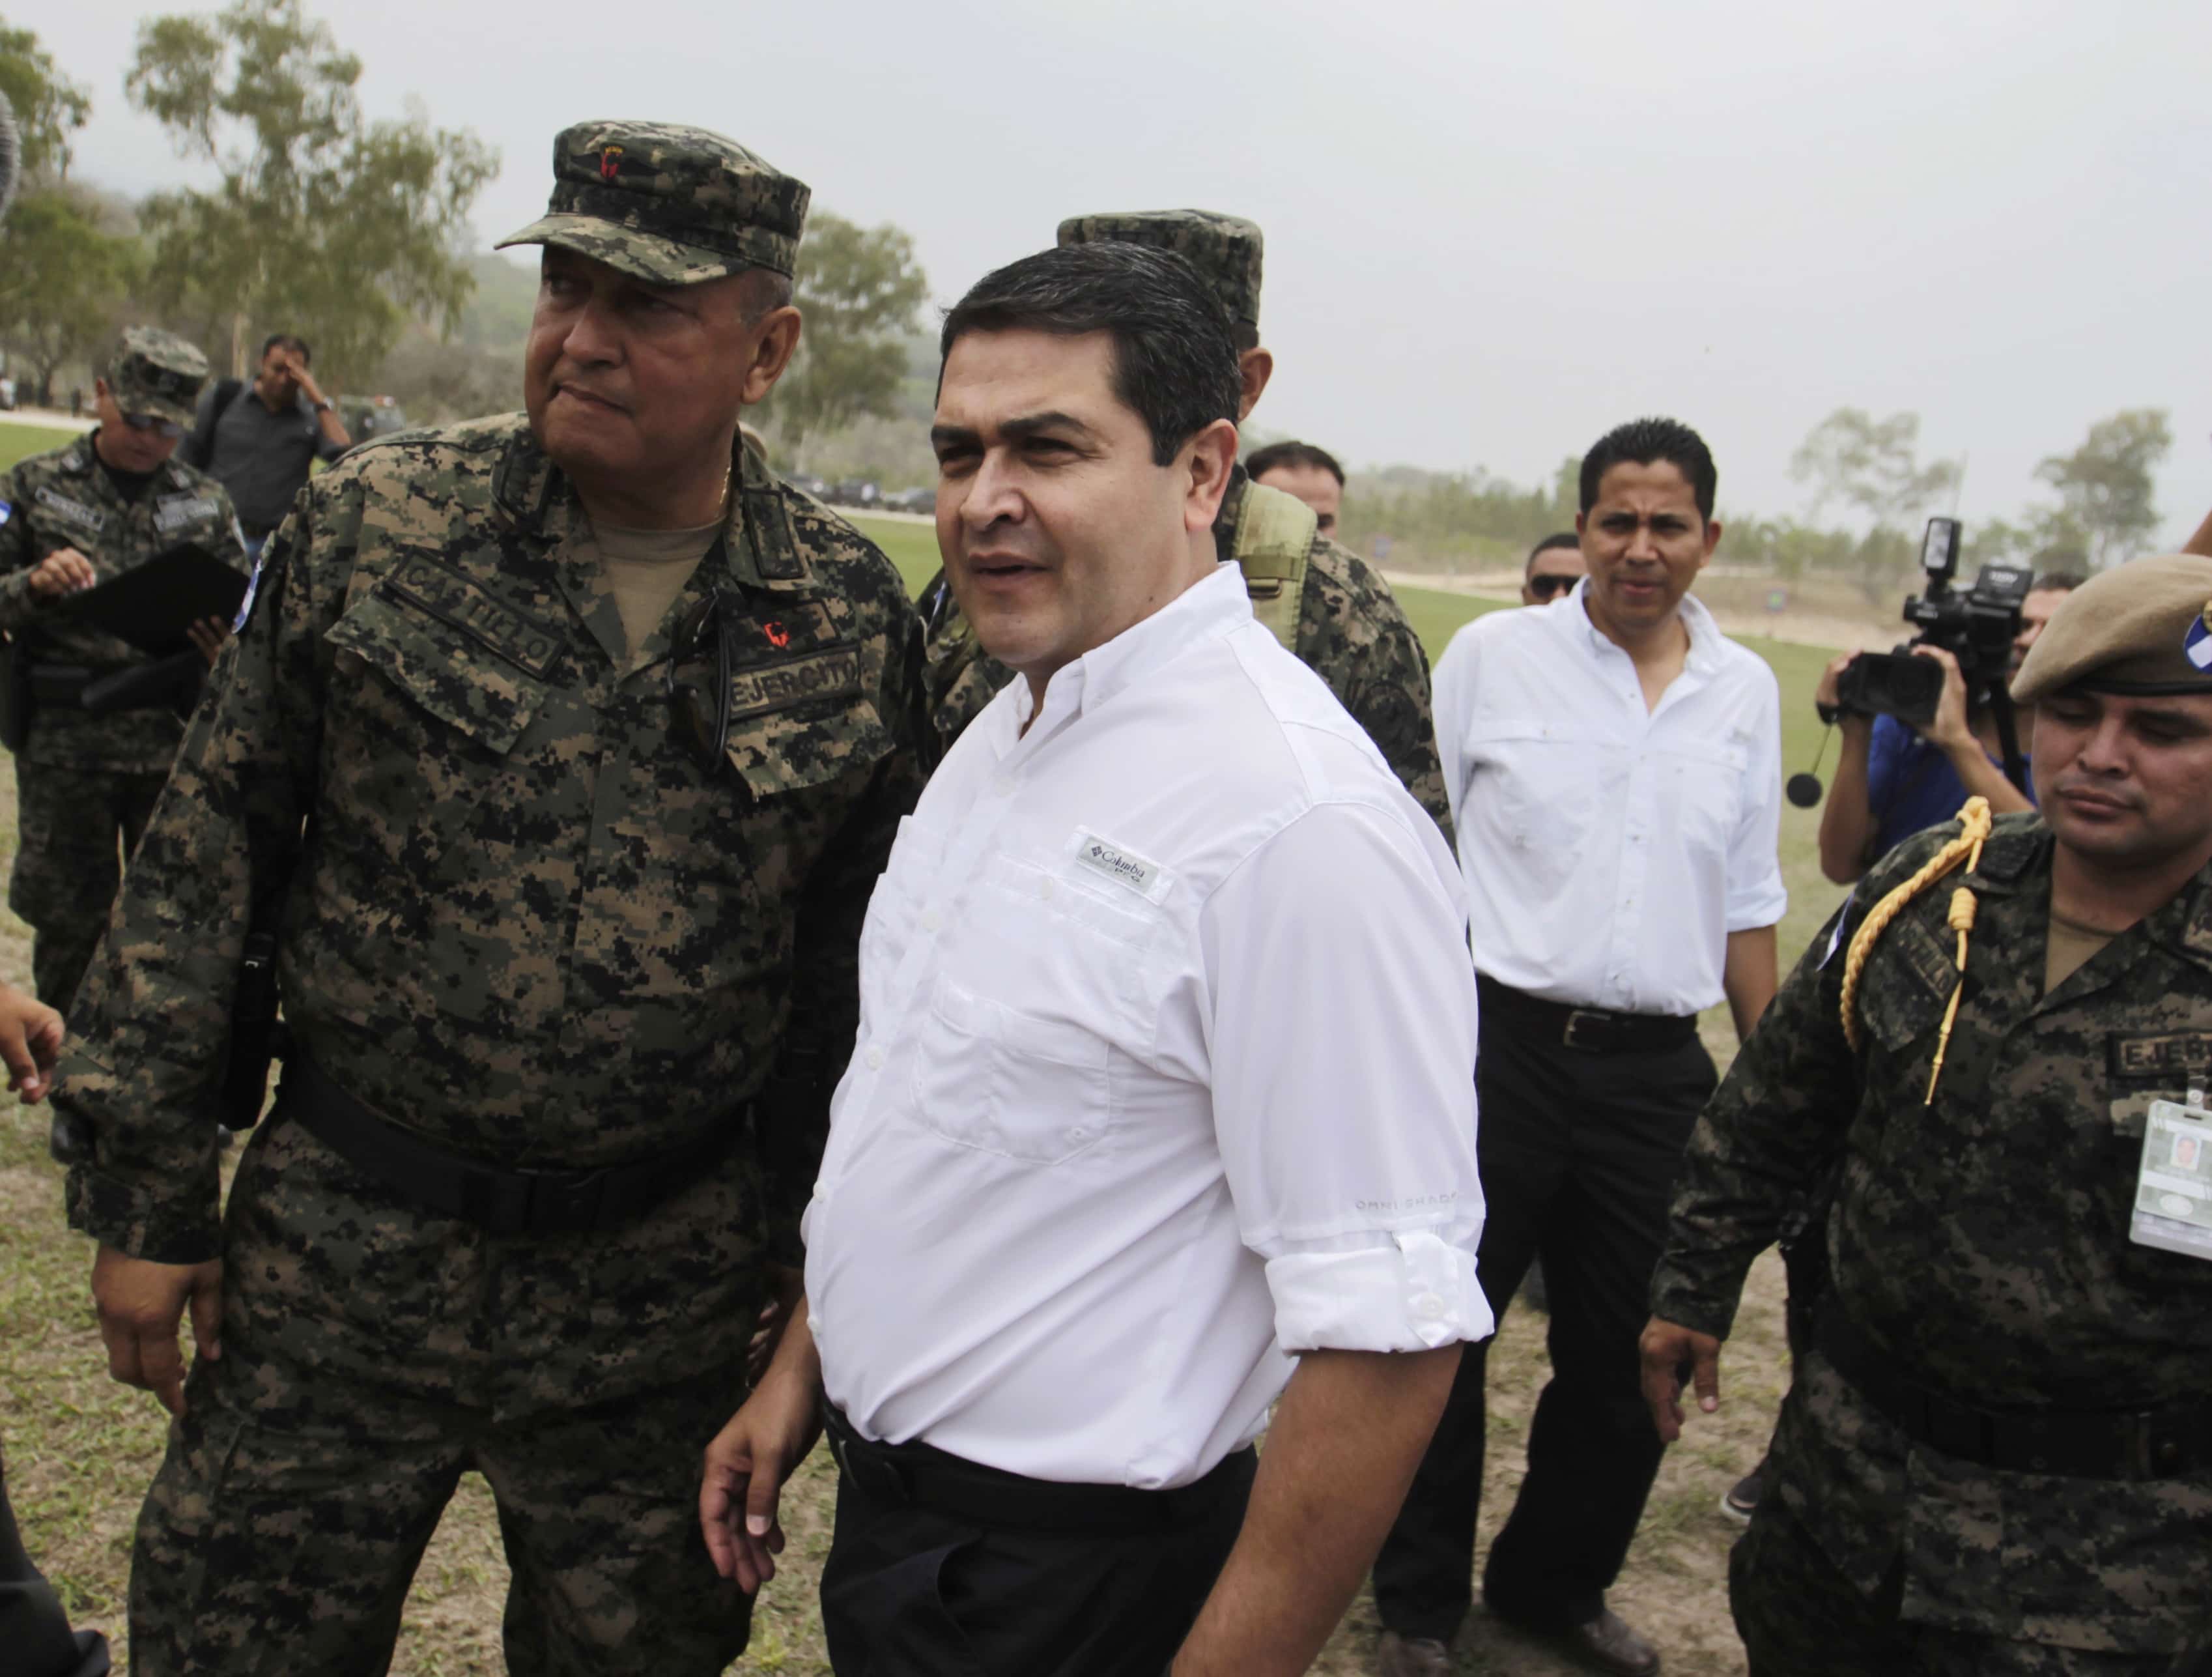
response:
<path id="1" fill-rule="evenodd" d="M 93 673 L 146 659 L 128 642 L 60 617 L 31 595 L 31 569 L 73 546 L 108 582 L 179 542 L 199 542 L 246 571 L 237 518 L 223 487 L 181 460 L 157 467 L 146 493 L 126 500 L 93 458 L 91 434 L 53 454 L 35 454 L 0 480 L 0 631 L 33 664 L 71 664 Z M 55 768 L 161 772 L 177 754 L 184 721 L 168 708 L 86 717 L 40 710 L 22 757 Z"/>

